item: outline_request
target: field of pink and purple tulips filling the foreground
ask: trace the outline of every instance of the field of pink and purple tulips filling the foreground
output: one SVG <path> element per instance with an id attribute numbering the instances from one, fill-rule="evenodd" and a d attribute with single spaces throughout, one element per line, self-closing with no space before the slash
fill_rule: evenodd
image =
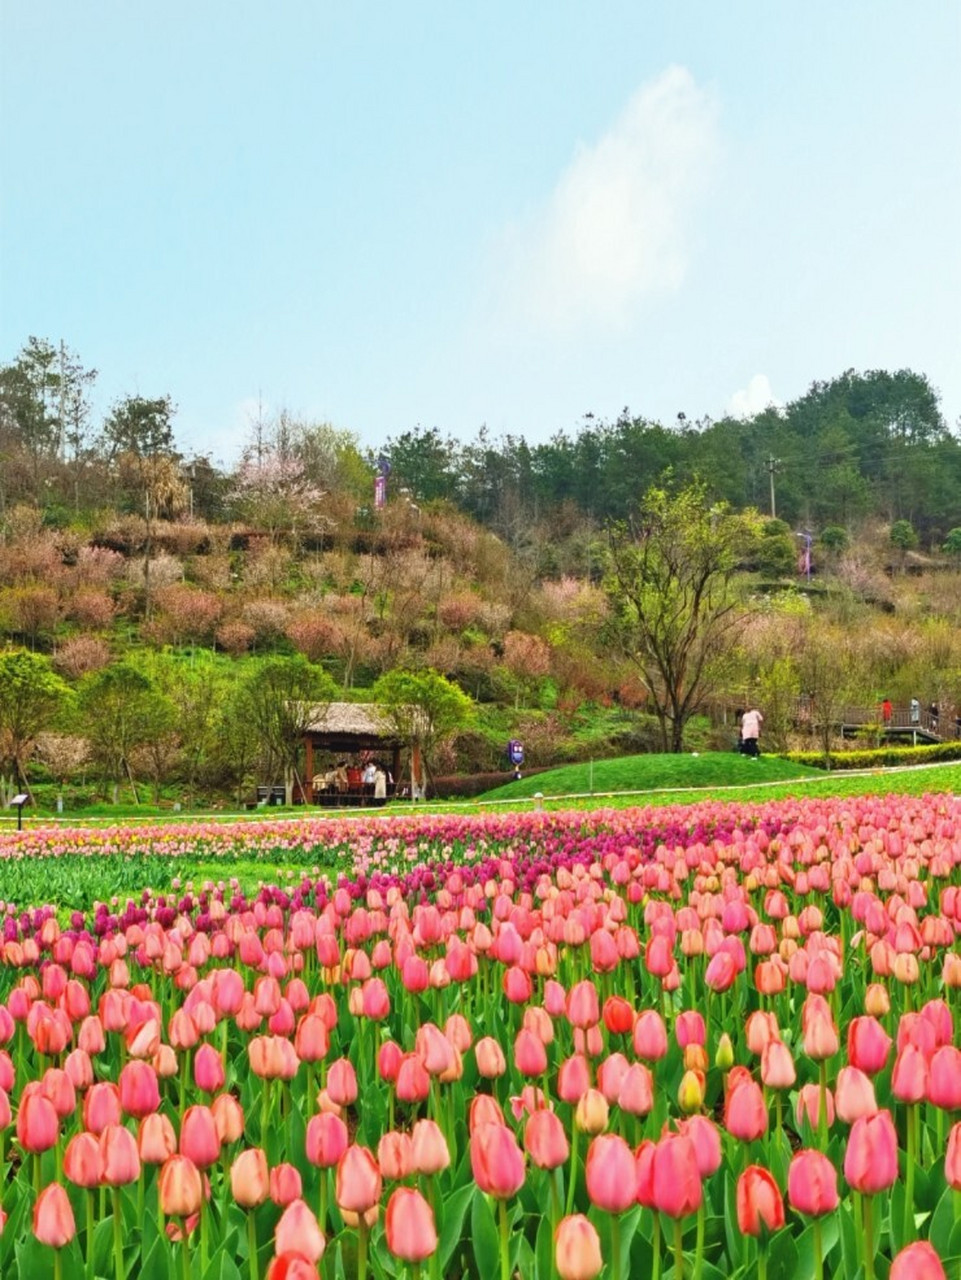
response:
<path id="1" fill-rule="evenodd" d="M 33 827 L 0 897 L 0 1276 L 961 1276 L 958 797 Z"/>

